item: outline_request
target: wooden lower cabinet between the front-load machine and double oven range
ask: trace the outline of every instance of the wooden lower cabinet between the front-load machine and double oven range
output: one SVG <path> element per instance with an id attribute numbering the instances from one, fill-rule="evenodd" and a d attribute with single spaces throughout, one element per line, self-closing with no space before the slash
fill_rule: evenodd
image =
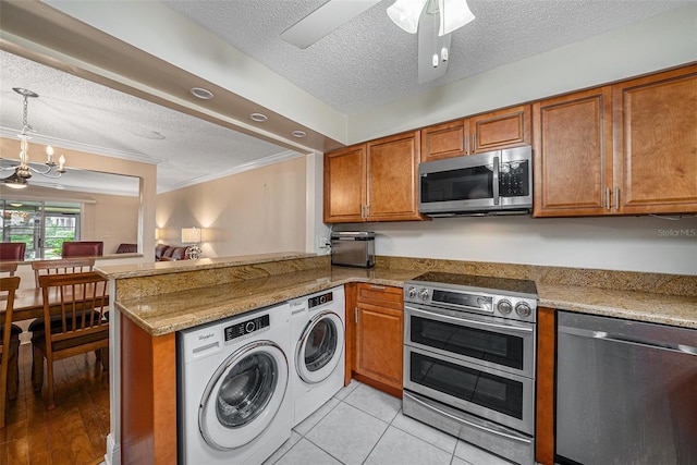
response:
<path id="1" fill-rule="evenodd" d="M 346 311 L 351 372 L 358 381 L 402 396 L 402 289 L 358 283 L 348 287 L 354 303 Z M 351 291 L 348 292 L 351 293 Z"/>

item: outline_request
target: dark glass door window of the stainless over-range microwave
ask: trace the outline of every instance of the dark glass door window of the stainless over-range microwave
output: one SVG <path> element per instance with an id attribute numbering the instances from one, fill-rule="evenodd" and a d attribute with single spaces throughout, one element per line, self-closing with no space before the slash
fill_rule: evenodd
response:
<path id="1" fill-rule="evenodd" d="M 493 198 L 493 168 L 474 167 L 421 176 L 421 203 Z"/>

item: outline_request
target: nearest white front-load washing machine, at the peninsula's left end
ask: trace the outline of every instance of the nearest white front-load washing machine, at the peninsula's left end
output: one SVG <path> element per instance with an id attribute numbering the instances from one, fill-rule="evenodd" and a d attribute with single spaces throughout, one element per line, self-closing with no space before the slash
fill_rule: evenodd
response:
<path id="1" fill-rule="evenodd" d="M 178 333 L 180 464 L 254 464 L 291 436 L 290 306 Z"/>

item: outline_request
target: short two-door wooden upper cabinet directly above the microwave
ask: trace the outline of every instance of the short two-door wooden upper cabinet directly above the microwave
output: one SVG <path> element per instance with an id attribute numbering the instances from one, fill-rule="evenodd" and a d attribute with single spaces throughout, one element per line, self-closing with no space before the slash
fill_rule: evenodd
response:
<path id="1" fill-rule="evenodd" d="M 421 161 L 530 144 L 531 107 L 524 105 L 421 130 Z"/>

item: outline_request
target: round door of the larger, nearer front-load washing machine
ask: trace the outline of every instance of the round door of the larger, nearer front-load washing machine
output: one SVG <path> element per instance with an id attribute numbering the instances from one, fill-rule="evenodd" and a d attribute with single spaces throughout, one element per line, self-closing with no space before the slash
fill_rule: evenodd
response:
<path id="1" fill-rule="evenodd" d="M 201 396 L 198 426 L 206 442 L 224 451 L 254 441 L 279 411 L 288 377 L 285 354 L 271 341 L 250 342 L 232 353 Z"/>

